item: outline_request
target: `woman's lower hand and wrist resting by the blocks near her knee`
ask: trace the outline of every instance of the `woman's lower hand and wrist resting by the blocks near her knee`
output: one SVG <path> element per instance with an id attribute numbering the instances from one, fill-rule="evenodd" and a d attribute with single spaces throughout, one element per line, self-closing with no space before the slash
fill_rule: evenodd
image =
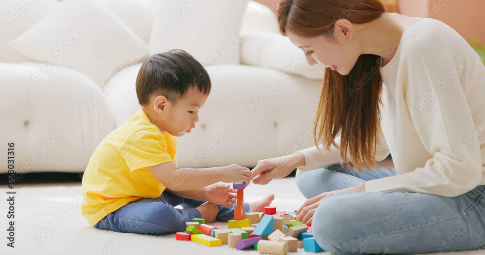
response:
<path id="1" fill-rule="evenodd" d="M 305 203 L 303 203 L 300 209 L 298 209 L 298 211 L 296 212 L 296 215 L 297 215 L 296 220 L 310 226 L 311 221 L 313 220 L 313 213 L 315 212 L 315 210 L 317 210 L 318 205 L 320 205 L 320 203 L 323 200 L 327 199 L 331 195 L 345 193 L 345 192 L 365 192 L 365 183 L 362 183 L 355 187 L 342 189 L 342 190 L 325 192 L 308 199 L 307 201 L 305 201 Z"/>

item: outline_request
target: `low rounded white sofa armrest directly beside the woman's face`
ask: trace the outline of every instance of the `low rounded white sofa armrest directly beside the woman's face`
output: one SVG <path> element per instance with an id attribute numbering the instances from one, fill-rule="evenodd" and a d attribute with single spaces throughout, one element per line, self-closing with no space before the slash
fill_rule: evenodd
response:
<path id="1" fill-rule="evenodd" d="M 241 64 L 268 67 L 308 79 L 322 80 L 323 66 L 310 66 L 303 52 L 280 34 L 255 32 L 241 36 Z"/>

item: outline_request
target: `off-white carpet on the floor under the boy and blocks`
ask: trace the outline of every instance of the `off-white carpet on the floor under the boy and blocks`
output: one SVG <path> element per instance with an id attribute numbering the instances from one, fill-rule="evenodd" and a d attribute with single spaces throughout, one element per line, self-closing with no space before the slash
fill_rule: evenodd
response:
<path id="1" fill-rule="evenodd" d="M 7 247 L 7 189 L 0 189 L 0 255 L 166 255 L 210 254 L 256 255 L 256 251 L 236 251 L 222 247 L 206 247 L 191 241 L 177 241 L 175 234 L 149 236 L 97 230 L 81 215 L 81 186 L 16 188 L 15 248 Z M 305 201 L 295 186 L 294 178 L 273 180 L 266 186 L 250 185 L 244 191 L 245 201 L 274 193 L 277 210 L 296 210 Z M 227 228 L 226 223 L 211 224 Z M 289 255 L 310 254 L 303 249 Z M 319 253 L 330 255 L 330 253 Z M 479 255 L 485 251 L 441 253 L 446 255 Z"/>

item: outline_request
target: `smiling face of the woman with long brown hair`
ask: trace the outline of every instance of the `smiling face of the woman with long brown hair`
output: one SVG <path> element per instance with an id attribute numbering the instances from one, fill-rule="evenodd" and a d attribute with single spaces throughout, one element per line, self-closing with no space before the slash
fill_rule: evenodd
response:
<path id="1" fill-rule="evenodd" d="M 333 38 L 323 35 L 303 38 L 291 31 L 287 31 L 287 35 L 293 45 L 303 50 L 309 65 L 318 63 L 339 72 L 340 75 L 348 75 L 359 57 L 357 47 L 352 43 L 349 45 L 348 37 L 337 33 L 337 30 Z"/>

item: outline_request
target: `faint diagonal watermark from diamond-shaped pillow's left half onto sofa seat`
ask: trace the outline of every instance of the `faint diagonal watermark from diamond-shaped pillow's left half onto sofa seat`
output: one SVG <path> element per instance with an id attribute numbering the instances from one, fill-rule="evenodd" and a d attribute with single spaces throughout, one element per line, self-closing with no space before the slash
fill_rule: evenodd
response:
<path id="1" fill-rule="evenodd" d="M 72 47 L 72 45 L 76 44 L 81 37 L 82 35 L 79 34 L 78 31 L 71 32 L 69 38 L 54 49 L 53 54 L 57 57 L 57 60 L 62 58 Z M 40 67 L 32 71 L 32 75 L 30 77 L 25 78 L 27 87 L 29 89 L 32 88 L 32 85 L 35 84 L 43 75 L 45 75 L 46 72 L 49 71 L 50 66 L 54 64 L 56 64 L 56 59 L 54 57 L 49 57 L 47 62 L 40 63 Z"/>

